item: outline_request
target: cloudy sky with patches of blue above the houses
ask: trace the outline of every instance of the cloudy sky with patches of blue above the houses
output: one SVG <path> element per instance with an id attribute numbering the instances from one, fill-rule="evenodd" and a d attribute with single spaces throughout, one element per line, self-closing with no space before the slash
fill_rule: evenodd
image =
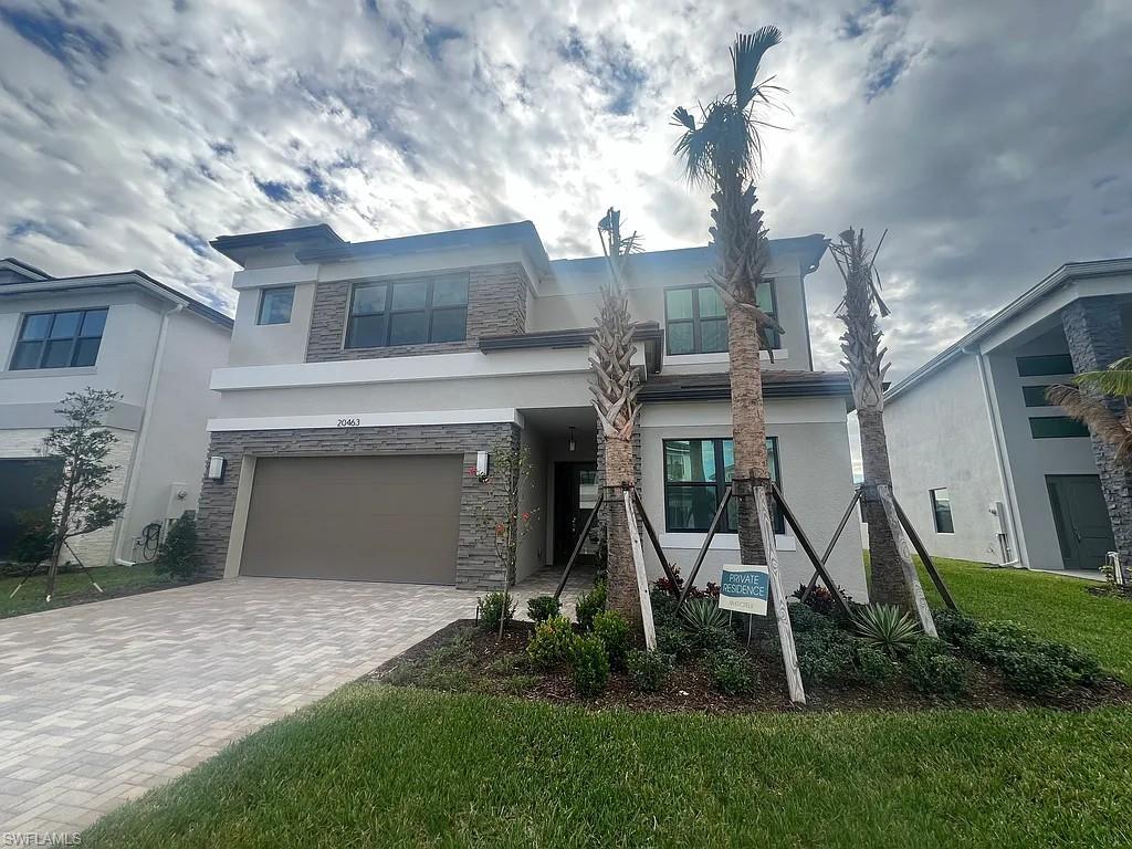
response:
<path id="1" fill-rule="evenodd" d="M 669 115 L 765 23 L 772 235 L 891 229 L 893 377 L 1060 264 L 1132 254 L 1127 0 L 0 0 L 0 256 L 225 306 L 207 241 L 297 223 L 531 218 L 575 257 L 614 204 L 650 248 L 702 245 Z M 811 282 L 835 368 L 829 260 Z"/>

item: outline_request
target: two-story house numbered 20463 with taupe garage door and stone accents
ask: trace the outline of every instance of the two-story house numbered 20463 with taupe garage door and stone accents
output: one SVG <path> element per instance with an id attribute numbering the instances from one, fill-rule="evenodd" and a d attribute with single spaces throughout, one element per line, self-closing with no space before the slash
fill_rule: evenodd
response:
<path id="1" fill-rule="evenodd" d="M 222 397 L 206 465 L 221 477 L 204 482 L 200 533 L 213 569 L 500 586 L 501 516 L 474 471 L 478 452 L 514 445 L 534 464 L 516 577 L 566 563 L 600 481 L 588 360 L 604 259 L 551 261 L 530 222 L 361 243 L 319 225 L 213 246 L 242 268 L 229 367 L 212 380 Z M 852 494 L 848 381 L 812 370 L 803 289 L 825 240 L 771 248 L 763 302 L 787 331 L 764 363 L 773 471 L 823 546 Z M 644 377 L 638 480 L 685 572 L 732 464 L 710 259 L 640 254 L 627 280 Z M 700 582 L 738 557 L 734 521 Z M 797 585 L 811 568 L 779 531 Z M 856 533 L 832 569 L 865 598 Z"/>

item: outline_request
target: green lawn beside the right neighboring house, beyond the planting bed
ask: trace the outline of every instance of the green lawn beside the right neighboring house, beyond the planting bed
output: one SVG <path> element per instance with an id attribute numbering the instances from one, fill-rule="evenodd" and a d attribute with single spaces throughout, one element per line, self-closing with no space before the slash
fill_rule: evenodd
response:
<path id="1" fill-rule="evenodd" d="M 1132 684 L 1132 602 L 1086 592 L 1091 581 L 936 558 L 936 567 L 959 608 L 979 619 L 1021 623 L 1047 640 L 1075 645 L 1115 676 Z M 933 606 L 943 601 L 931 578 L 920 580 Z"/>

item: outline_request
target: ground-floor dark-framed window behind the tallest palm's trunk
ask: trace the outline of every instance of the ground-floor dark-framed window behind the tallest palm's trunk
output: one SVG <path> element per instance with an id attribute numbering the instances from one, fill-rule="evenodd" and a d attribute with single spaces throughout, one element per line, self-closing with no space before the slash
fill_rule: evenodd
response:
<path id="1" fill-rule="evenodd" d="M 781 483 L 778 438 L 766 439 L 771 479 Z M 735 473 L 735 445 L 730 439 L 664 440 L 664 526 L 671 533 L 706 533 L 720 499 Z M 738 500 L 728 503 L 718 532 L 735 533 Z M 775 533 L 786 533 L 782 515 L 772 511 Z"/>

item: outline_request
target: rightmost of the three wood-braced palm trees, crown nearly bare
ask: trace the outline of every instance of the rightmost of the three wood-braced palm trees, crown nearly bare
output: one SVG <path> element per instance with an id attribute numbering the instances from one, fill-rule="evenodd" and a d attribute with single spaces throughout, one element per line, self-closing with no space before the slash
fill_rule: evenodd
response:
<path id="1" fill-rule="evenodd" d="M 881 237 L 881 243 L 884 237 Z M 880 293 L 880 278 L 874 261 L 876 250 L 865 247 L 865 231 L 849 228 L 841 233 L 841 242 L 830 245 L 830 254 L 846 282 L 846 297 L 838 309 L 838 318 L 846 324 L 841 336 L 841 363 L 849 372 L 852 385 L 857 421 L 860 423 L 860 448 L 865 465 L 865 482 L 892 486 L 889 465 L 889 443 L 884 434 L 884 363 L 881 349 L 881 329 L 877 312 L 889 315 Z M 875 308 L 875 309 L 874 309 Z M 868 494 L 866 494 L 867 496 Z M 909 609 L 911 595 L 904 580 L 903 561 L 897 547 L 895 534 L 889 526 L 884 505 L 866 497 L 865 516 L 868 522 L 868 556 L 872 569 L 869 598 L 884 604 Z"/>

